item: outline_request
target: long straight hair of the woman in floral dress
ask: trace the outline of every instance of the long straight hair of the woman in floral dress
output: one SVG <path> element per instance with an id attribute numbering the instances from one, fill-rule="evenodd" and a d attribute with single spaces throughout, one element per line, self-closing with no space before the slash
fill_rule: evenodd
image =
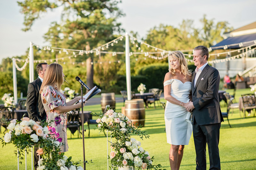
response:
<path id="1" fill-rule="evenodd" d="M 40 93 L 42 93 L 42 90 L 46 86 L 52 86 L 53 88 L 60 90 L 63 82 L 64 77 L 62 66 L 57 63 L 52 63 L 46 68 Z"/>

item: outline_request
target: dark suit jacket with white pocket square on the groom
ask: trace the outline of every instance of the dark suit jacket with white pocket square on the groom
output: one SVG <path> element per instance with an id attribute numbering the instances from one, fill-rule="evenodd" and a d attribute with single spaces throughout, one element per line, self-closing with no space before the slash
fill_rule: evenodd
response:
<path id="1" fill-rule="evenodd" d="M 194 122 L 196 118 L 196 122 L 199 125 L 223 122 L 218 97 L 220 86 L 220 74 L 218 70 L 207 64 L 198 77 L 196 86 L 194 87 L 195 76 L 196 72 L 192 74 L 192 99 L 195 107 L 192 114 L 192 121 Z"/>

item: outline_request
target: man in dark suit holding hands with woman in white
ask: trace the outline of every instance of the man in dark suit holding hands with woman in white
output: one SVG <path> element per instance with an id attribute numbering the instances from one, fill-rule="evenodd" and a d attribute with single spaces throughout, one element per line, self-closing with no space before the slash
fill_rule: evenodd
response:
<path id="1" fill-rule="evenodd" d="M 196 70 L 192 74 L 192 100 L 186 109 L 192 111 L 193 137 L 196 149 L 196 170 L 206 170 L 206 143 L 208 145 L 210 170 L 220 170 L 220 111 L 218 91 L 220 74 L 208 65 L 208 48 L 197 46 L 193 61 Z"/>

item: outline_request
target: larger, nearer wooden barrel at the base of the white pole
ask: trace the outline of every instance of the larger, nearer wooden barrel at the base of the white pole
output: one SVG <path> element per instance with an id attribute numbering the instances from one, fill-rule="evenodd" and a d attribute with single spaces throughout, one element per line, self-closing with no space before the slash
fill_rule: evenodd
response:
<path id="1" fill-rule="evenodd" d="M 125 116 L 137 126 L 145 124 L 145 108 L 143 99 L 125 100 Z"/>

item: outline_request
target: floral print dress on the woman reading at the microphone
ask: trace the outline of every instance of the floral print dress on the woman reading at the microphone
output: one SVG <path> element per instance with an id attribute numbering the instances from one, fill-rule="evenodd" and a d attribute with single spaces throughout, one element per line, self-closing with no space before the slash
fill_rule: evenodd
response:
<path id="1" fill-rule="evenodd" d="M 54 135 L 57 141 L 61 142 L 61 152 L 68 151 L 67 139 L 67 113 L 57 113 L 54 108 L 58 106 L 66 106 L 66 98 L 63 94 L 52 86 L 46 86 L 41 94 L 44 110 L 46 111 L 46 121 L 52 123 L 48 124 L 49 133 Z"/>

